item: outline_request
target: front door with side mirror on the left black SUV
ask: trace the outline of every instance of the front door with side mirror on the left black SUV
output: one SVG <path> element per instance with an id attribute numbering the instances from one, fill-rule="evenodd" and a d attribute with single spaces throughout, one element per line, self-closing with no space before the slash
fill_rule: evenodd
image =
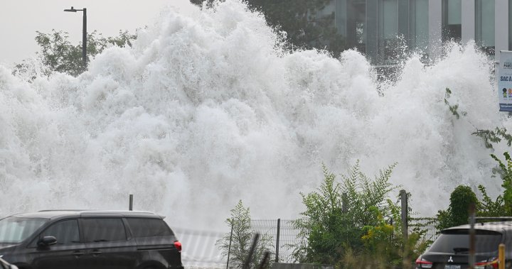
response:
<path id="1" fill-rule="evenodd" d="M 51 246 L 38 246 L 43 236 L 54 236 L 57 243 Z M 80 258 L 85 254 L 80 243 L 77 219 L 65 219 L 48 226 L 28 246 L 28 261 L 31 268 L 79 268 Z"/>

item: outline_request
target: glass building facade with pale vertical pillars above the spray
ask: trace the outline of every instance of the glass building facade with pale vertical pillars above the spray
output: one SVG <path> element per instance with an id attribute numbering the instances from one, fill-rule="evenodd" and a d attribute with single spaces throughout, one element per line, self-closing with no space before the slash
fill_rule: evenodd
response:
<path id="1" fill-rule="evenodd" d="M 425 58 L 474 40 L 489 55 L 512 49 L 512 0 L 333 0 L 338 33 L 375 65 L 406 51 Z M 496 53 L 498 55 L 498 53 Z"/>

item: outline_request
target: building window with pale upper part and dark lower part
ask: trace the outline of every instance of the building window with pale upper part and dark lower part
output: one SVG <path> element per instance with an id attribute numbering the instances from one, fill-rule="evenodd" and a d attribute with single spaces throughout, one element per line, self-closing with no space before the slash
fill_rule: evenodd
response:
<path id="1" fill-rule="evenodd" d="M 442 0 L 442 43 L 462 39 L 462 0 Z M 487 0 L 484 0 L 487 1 Z M 494 0 L 493 0 L 494 1 Z"/>

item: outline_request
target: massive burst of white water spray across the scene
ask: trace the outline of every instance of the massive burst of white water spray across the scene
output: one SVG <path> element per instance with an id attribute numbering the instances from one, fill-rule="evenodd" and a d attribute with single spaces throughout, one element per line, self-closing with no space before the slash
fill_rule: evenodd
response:
<path id="1" fill-rule="evenodd" d="M 239 199 L 253 218 L 287 219 L 304 209 L 299 192 L 319 187 L 322 163 L 343 173 L 356 160 L 370 176 L 397 162 L 393 184 L 427 216 L 457 185 L 498 194 L 496 162 L 471 133 L 511 124 L 473 45 L 428 67 L 410 57 L 383 83 L 356 51 L 281 42 L 227 0 L 163 12 L 134 48 L 106 50 L 77 78 L 28 83 L 0 66 L 0 214 L 127 209 L 134 194 L 135 209 L 174 226 L 215 228 Z"/>

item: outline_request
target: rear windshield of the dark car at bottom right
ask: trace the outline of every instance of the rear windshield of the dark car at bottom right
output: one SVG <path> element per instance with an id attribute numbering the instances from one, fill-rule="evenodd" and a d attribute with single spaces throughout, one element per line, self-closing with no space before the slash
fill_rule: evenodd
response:
<path id="1" fill-rule="evenodd" d="M 497 231 L 475 230 L 476 253 L 493 252 L 501 243 Z M 430 246 L 429 251 L 441 253 L 468 253 L 469 231 L 467 229 L 446 230 Z"/>

